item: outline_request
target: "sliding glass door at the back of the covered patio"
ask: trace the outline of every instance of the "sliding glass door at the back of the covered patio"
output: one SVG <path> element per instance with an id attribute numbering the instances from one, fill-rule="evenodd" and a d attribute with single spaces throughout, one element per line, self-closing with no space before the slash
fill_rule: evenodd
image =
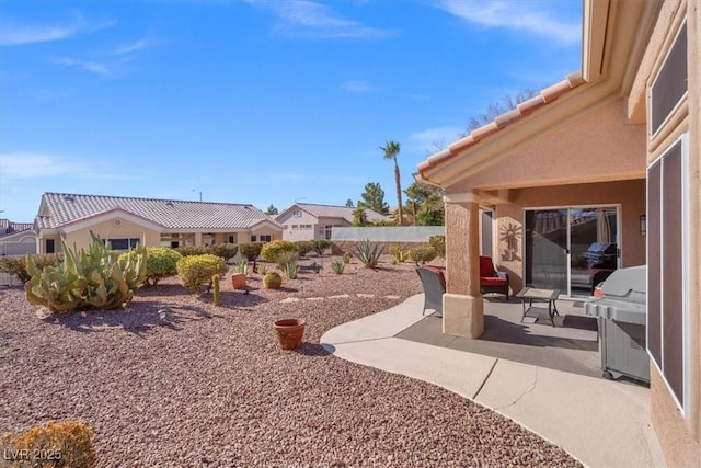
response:
<path id="1" fill-rule="evenodd" d="M 525 226 L 526 286 L 588 296 L 597 273 L 618 267 L 617 207 L 527 209 Z"/>

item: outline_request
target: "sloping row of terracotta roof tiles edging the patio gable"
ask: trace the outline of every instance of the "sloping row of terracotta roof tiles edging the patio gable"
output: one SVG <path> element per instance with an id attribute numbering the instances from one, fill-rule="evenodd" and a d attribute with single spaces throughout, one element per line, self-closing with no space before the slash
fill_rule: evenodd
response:
<path id="1" fill-rule="evenodd" d="M 448 148 L 436 152 L 435 155 L 429 156 L 425 161 L 418 163 L 418 172 L 423 173 L 429 169 L 433 169 L 444 162 L 452 159 L 458 153 L 464 151 L 466 149 L 476 145 L 480 140 L 496 134 L 499 130 L 503 130 L 507 126 L 513 123 L 519 121 L 520 118 L 527 116 L 528 114 L 533 113 L 538 109 L 550 104 L 555 101 L 562 94 L 584 84 L 584 78 L 582 78 L 582 71 L 575 71 L 565 77 L 564 80 L 548 87 L 538 93 L 538 95 L 519 103 L 516 109 L 505 112 L 502 115 L 496 116 L 493 122 L 490 122 L 486 125 L 483 125 L 479 128 L 475 128 L 470 133 L 470 135 L 461 138 L 451 145 Z"/>

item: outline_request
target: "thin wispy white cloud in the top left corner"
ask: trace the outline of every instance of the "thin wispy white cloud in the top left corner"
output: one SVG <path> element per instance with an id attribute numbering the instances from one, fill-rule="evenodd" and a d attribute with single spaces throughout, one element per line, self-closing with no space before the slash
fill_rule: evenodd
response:
<path id="1" fill-rule="evenodd" d="M 93 33 L 110 27 L 112 24 L 112 22 L 89 23 L 80 13 L 73 14 L 65 24 L 16 24 L 12 21 L 4 21 L 2 28 L 0 28 L 0 46 L 62 41 L 80 34 Z"/>

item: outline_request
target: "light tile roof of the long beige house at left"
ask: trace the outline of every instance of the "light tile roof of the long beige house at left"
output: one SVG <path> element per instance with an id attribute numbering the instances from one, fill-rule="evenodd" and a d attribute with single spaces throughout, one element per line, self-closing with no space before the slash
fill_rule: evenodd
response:
<path id="1" fill-rule="evenodd" d="M 36 222 L 45 229 L 114 210 L 126 212 L 168 229 L 246 229 L 261 221 L 283 228 L 258 208 L 245 204 L 66 193 L 45 193 L 42 201 L 49 215 L 37 216 Z"/>

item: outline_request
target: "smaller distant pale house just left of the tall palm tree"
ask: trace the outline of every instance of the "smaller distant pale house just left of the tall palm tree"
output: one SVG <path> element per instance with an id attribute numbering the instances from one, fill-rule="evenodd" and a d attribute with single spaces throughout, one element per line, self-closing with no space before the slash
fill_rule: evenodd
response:
<path id="1" fill-rule="evenodd" d="M 285 228 L 283 233 L 285 240 L 331 239 L 331 230 L 334 227 L 353 226 L 355 209 L 347 206 L 295 203 L 275 219 Z M 365 215 L 369 222 L 392 220 L 369 208 L 365 209 Z"/>

